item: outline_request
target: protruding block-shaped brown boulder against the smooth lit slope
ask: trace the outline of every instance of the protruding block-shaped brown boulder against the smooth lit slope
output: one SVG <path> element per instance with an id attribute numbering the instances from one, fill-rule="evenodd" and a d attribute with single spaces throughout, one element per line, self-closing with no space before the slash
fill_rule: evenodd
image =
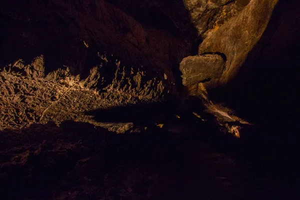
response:
<path id="1" fill-rule="evenodd" d="M 182 83 L 185 86 L 209 81 L 222 75 L 225 61 L 217 54 L 188 56 L 180 62 Z"/>

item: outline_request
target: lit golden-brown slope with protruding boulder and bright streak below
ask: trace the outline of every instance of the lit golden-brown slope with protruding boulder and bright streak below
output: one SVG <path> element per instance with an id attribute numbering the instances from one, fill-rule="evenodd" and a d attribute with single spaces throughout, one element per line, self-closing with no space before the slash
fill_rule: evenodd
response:
<path id="1" fill-rule="evenodd" d="M 206 111 L 215 116 L 220 126 L 223 124 L 220 121 L 230 122 L 233 120 L 233 116 L 216 108 L 208 98 L 206 88 L 226 85 L 237 75 L 248 53 L 267 28 L 277 2 L 278 0 L 250 1 L 239 14 L 216 28 L 215 31 L 206 34 L 208 36 L 199 45 L 198 55 L 186 57 L 180 63 L 183 84 L 187 86 L 187 93 L 191 96 L 201 97 Z M 206 6 L 221 6 L 217 3 L 216 1 L 207 1 Z M 229 1 L 222 3 L 224 3 L 223 5 L 230 4 Z M 204 83 L 199 84 L 200 82 Z M 232 128 L 229 127 L 229 129 Z M 231 132 L 234 132 L 232 130 Z M 239 136 L 239 133 L 237 135 Z"/>

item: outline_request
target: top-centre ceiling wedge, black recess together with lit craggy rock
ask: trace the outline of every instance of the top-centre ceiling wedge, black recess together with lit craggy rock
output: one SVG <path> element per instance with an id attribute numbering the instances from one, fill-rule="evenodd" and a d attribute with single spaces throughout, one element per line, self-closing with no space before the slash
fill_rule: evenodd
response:
<path id="1" fill-rule="evenodd" d="M 107 0 L 144 25 L 193 42 L 237 15 L 249 0 Z"/>

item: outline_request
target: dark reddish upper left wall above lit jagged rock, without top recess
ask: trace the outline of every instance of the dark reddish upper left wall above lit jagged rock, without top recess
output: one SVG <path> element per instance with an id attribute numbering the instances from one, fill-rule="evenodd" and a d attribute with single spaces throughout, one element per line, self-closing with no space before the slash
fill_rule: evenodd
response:
<path id="1" fill-rule="evenodd" d="M 158 78 L 175 82 L 185 43 L 172 34 L 143 27 L 133 17 L 104 0 L 50 0 L 0 2 L 3 65 L 44 55 L 46 73 L 63 65 L 76 74 L 88 74 L 94 53 L 106 51 L 135 68 L 143 65 Z"/>

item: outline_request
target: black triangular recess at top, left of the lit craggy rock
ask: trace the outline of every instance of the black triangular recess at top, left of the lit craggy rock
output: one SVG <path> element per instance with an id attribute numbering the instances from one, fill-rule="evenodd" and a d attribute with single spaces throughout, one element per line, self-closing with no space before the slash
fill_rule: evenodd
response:
<path id="1" fill-rule="evenodd" d="M 190 13 L 183 0 L 106 0 L 133 16 L 144 26 L 162 29 L 190 44 L 197 38 L 197 30 L 190 21 Z"/>

